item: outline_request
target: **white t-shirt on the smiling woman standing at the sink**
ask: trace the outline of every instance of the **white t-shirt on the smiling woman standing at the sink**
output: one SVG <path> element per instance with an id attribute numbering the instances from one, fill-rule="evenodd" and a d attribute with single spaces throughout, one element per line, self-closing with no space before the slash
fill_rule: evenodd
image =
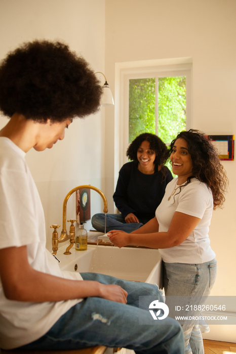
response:
<path id="1" fill-rule="evenodd" d="M 201 220 L 180 245 L 159 249 L 159 251 L 163 260 L 167 263 L 208 262 L 215 258 L 208 236 L 213 211 L 212 191 L 205 183 L 193 178 L 190 183 L 181 188 L 180 193 L 180 188 L 178 188 L 172 196 L 174 189 L 177 187 L 176 183 L 177 178 L 167 185 L 163 200 L 155 211 L 155 216 L 159 222 L 159 231 L 168 231 L 175 211 L 199 217 Z M 170 196 L 171 198 L 168 200 Z"/>

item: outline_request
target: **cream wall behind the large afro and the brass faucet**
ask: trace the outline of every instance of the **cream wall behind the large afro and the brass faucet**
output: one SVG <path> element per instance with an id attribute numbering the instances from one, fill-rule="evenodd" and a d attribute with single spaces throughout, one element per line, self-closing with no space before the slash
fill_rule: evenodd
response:
<path id="1" fill-rule="evenodd" d="M 95 71 L 104 72 L 104 0 L 0 0 L 0 59 L 20 43 L 33 39 L 59 39 L 82 55 Z M 102 82 L 103 83 L 103 82 Z M 62 223 L 62 204 L 74 187 L 91 184 L 103 189 L 104 108 L 96 115 L 74 119 L 63 142 L 52 150 L 26 155 L 43 202 L 51 249 L 50 225 Z M 7 118 L 0 117 L 0 128 Z M 96 192 L 92 212 L 99 212 Z M 98 197 L 97 197 L 98 196 Z M 74 199 L 68 201 L 67 218 L 75 218 Z M 69 227 L 68 227 L 69 228 Z M 59 229 L 60 230 L 60 229 Z"/>

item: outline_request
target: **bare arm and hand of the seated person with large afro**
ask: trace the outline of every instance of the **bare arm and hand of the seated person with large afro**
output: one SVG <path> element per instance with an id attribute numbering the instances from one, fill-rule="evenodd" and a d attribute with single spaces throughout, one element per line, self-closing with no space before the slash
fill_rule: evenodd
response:
<path id="1" fill-rule="evenodd" d="M 127 293 L 119 285 L 70 280 L 34 270 L 26 246 L 0 250 L 0 277 L 10 300 L 44 302 L 96 296 L 126 303 Z"/>

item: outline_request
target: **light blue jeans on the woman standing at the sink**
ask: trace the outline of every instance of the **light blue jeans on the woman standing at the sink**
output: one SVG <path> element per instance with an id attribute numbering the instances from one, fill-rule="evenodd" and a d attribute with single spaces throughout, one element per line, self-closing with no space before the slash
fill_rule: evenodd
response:
<path id="1" fill-rule="evenodd" d="M 188 297 L 189 309 L 191 305 L 196 304 L 196 301 L 199 301 L 200 305 L 204 304 L 215 283 L 216 259 L 201 264 L 163 263 L 166 304 L 169 308 L 171 308 L 170 301 L 173 301 L 173 296 Z M 199 317 L 200 314 L 201 311 L 186 311 L 184 315 Z M 176 312 L 172 314 L 170 311 L 169 316 L 175 318 Z M 203 337 L 198 324 L 189 325 L 188 321 L 181 321 L 181 325 L 184 333 L 185 354 L 204 354 Z"/>

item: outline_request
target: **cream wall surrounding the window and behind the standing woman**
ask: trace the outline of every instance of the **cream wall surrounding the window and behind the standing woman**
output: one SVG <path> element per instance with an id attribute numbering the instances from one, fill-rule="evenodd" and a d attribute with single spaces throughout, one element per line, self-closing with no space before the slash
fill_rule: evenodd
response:
<path id="1" fill-rule="evenodd" d="M 105 67 L 106 74 L 113 78 L 109 81 L 111 89 L 115 87 L 117 62 L 191 57 L 192 128 L 212 135 L 236 134 L 235 18 L 235 0 L 106 1 Z M 114 120 L 109 120 L 108 129 L 106 144 L 110 147 L 116 134 Z M 107 159 L 109 174 L 114 156 L 116 152 L 113 151 L 113 156 L 110 152 Z M 235 296 L 236 161 L 222 163 L 230 188 L 224 208 L 214 211 L 210 228 L 211 245 L 218 261 L 212 295 Z M 116 178 L 114 175 L 114 181 Z M 108 189 L 112 190 L 111 176 L 109 182 Z M 236 314 L 236 304 L 233 312 Z M 235 327 L 234 333 L 227 337 L 231 329 L 232 326 L 227 326 L 226 331 L 218 331 L 215 339 L 235 341 Z"/>

